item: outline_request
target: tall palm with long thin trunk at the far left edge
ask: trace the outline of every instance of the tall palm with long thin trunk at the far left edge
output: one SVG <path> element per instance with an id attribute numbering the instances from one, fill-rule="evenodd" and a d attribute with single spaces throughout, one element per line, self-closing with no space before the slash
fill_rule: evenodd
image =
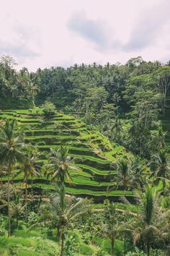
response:
<path id="1" fill-rule="evenodd" d="M 8 175 L 8 218 L 9 218 L 9 232 L 8 235 L 11 236 L 11 213 L 10 213 L 10 175 L 15 166 L 16 162 L 23 161 L 22 149 L 24 147 L 24 137 L 22 129 L 17 132 L 15 130 L 16 121 L 7 120 L 4 125 L 0 127 L 0 164 L 6 166 Z"/>

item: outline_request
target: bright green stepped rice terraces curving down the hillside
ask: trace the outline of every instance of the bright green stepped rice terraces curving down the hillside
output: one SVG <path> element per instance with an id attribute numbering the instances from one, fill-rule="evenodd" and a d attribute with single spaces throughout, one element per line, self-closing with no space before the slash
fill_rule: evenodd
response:
<path id="1" fill-rule="evenodd" d="M 25 142 L 37 145 L 40 150 L 40 163 L 48 162 L 50 148 L 57 149 L 59 145 L 66 145 L 69 155 L 77 158 L 76 166 L 81 171 L 71 171 L 73 182 L 66 182 L 66 190 L 69 194 L 81 197 L 94 197 L 96 201 L 102 201 L 106 196 L 113 200 L 119 200 L 124 194 L 121 190 L 112 191 L 107 195 L 107 187 L 114 183 L 115 162 L 120 158 L 128 158 L 125 148 L 116 143 L 109 142 L 97 131 L 91 131 L 74 116 L 56 113 L 53 119 L 43 119 L 42 110 L 39 108 L 29 110 L 1 111 L 0 119 L 16 119 L 18 127 L 26 127 Z M 113 180 L 113 182 L 111 182 Z M 6 176 L 3 177 L 6 181 Z M 34 187 L 42 191 L 53 191 L 54 185 L 41 176 L 34 179 Z M 17 176 L 14 183 L 22 186 L 22 176 Z M 129 198 L 133 192 L 127 192 Z"/>

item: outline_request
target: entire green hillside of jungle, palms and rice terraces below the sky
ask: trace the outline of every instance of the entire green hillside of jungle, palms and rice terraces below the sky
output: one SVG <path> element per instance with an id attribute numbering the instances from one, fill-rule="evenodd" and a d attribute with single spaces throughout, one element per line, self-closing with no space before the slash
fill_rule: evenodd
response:
<path id="1" fill-rule="evenodd" d="M 0 255 L 170 255 L 170 64 L 16 65 L 1 57 Z"/>

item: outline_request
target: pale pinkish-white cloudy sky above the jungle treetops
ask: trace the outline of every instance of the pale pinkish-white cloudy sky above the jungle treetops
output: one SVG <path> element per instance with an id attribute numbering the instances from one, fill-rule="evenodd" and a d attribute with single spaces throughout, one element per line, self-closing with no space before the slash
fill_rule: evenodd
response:
<path id="1" fill-rule="evenodd" d="M 0 0 L 0 56 L 18 69 L 170 59 L 169 0 Z"/>

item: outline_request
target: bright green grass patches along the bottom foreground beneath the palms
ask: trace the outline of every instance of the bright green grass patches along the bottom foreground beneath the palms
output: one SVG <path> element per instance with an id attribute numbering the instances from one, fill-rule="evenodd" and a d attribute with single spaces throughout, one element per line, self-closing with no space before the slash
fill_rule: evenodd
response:
<path id="1" fill-rule="evenodd" d="M 0 237 L 0 255 L 18 255 L 18 256 L 59 256 L 60 242 L 56 237 L 55 229 L 50 233 L 48 229 L 40 229 L 35 227 L 35 230 L 19 230 L 14 231 L 12 237 Z M 75 229 L 68 231 L 69 237 L 73 238 L 73 248 L 75 256 L 97 255 L 97 248 L 102 248 L 105 256 L 109 256 L 110 242 L 108 239 L 98 236 L 92 236 L 88 243 L 85 244 L 83 234 Z M 91 236 L 88 232 L 86 236 Z M 122 255 L 122 241 L 115 241 L 115 255 Z"/>

